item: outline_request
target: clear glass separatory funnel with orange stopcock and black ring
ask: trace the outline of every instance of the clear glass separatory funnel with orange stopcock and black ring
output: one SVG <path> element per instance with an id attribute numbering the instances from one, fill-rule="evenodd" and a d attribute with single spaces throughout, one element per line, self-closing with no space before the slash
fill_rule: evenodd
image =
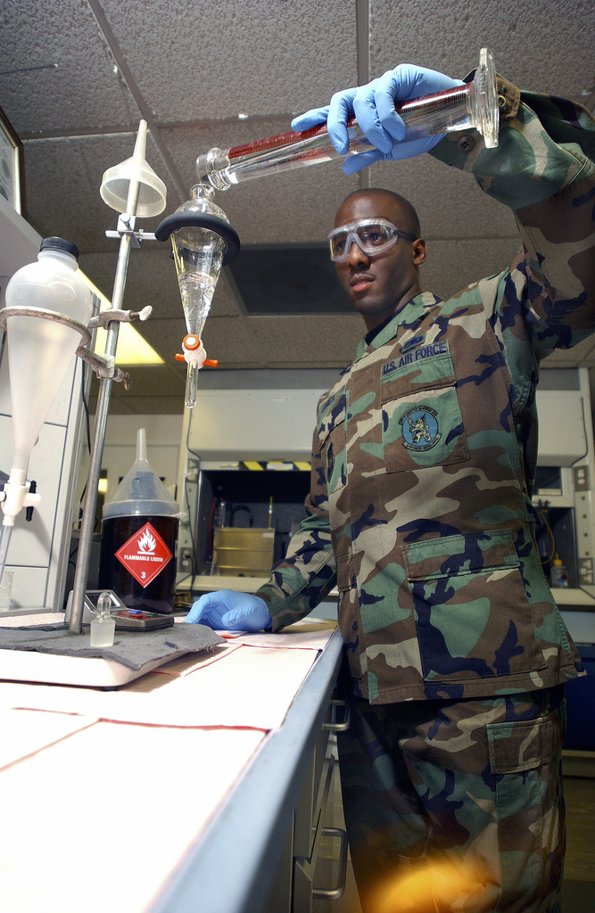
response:
<path id="1" fill-rule="evenodd" d="M 204 365 L 218 362 L 207 359 L 200 339 L 217 286 L 221 267 L 239 251 L 239 237 L 229 225 L 228 217 L 213 202 L 214 191 L 208 184 L 196 184 L 191 197 L 168 215 L 155 231 L 158 241 L 172 239 L 177 281 L 186 318 L 183 354 L 176 355 L 187 363 L 186 406 L 197 402 L 197 376 Z"/>

